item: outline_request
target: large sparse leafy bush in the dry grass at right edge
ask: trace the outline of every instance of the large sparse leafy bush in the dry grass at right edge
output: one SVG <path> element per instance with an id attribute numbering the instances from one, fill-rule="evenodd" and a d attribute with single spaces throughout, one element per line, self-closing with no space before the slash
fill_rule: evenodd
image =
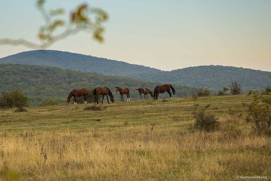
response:
<path id="1" fill-rule="evenodd" d="M 263 103 L 260 105 L 260 101 Z M 270 129 L 271 126 L 271 98 L 259 95 L 258 91 L 253 92 L 251 103 L 242 103 L 247 108 L 246 121 L 251 123 L 251 127 L 257 132 Z"/>

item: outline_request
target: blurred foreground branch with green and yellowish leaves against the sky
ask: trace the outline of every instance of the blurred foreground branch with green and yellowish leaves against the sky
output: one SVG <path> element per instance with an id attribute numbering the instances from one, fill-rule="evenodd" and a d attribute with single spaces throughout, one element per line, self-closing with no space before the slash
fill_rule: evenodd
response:
<path id="1" fill-rule="evenodd" d="M 68 23 L 66 23 L 64 20 L 58 19 L 59 15 L 64 14 L 64 9 L 47 11 L 44 8 L 44 3 L 45 0 L 37 1 L 37 8 L 45 21 L 45 25 L 39 29 L 39 44 L 25 39 L 12 40 L 5 38 L 0 39 L 0 45 L 23 45 L 33 49 L 46 49 L 53 43 L 70 35 L 75 35 L 80 31 L 92 33 L 94 39 L 99 42 L 104 40 L 102 37 L 104 28 L 101 26 L 101 24 L 108 19 L 105 11 L 99 8 L 89 8 L 89 5 L 87 4 L 81 4 L 70 13 L 70 19 Z M 90 18 L 90 15 L 94 15 L 94 20 Z M 62 33 L 56 34 L 55 32 L 59 27 L 65 27 L 65 30 Z"/>

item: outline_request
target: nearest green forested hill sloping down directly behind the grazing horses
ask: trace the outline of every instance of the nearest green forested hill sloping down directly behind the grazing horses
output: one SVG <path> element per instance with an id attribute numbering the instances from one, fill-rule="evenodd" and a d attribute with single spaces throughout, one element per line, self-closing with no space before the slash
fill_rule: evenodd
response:
<path id="1" fill-rule="evenodd" d="M 90 87 L 108 87 L 112 91 L 115 101 L 120 101 L 120 94 L 115 92 L 115 87 L 128 87 L 131 100 L 138 100 L 139 93 L 135 88 L 148 87 L 154 90 L 154 87 L 161 84 L 53 67 L 0 64 L 0 92 L 20 88 L 23 90 L 23 94 L 32 101 L 32 105 L 38 105 L 40 102 L 52 98 L 63 102 L 67 100 L 71 90 L 83 87 L 88 89 Z M 172 97 L 185 97 L 194 90 L 192 87 L 172 85 L 177 91 L 177 94 Z M 159 98 L 162 97 L 169 98 L 169 95 L 160 94 Z"/>

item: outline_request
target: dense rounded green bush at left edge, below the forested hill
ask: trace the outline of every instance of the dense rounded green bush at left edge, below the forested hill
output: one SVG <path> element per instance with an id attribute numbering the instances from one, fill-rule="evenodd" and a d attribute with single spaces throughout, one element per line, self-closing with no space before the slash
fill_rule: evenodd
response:
<path id="1" fill-rule="evenodd" d="M 13 108 L 17 107 L 21 109 L 22 107 L 28 106 L 28 98 L 23 95 L 23 90 L 11 90 L 9 93 L 2 91 L 2 96 L 0 97 L 0 107 L 1 108 Z"/>

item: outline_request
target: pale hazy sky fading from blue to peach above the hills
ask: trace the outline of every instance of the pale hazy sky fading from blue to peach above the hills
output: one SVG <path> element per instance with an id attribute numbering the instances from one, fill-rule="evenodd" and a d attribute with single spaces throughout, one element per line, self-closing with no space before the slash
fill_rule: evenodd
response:
<path id="1" fill-rule="evenodd" d="M 44 21 L 36 1 L 0 0 L 0 39 L 39 42 Z M 81 32 L 48 49 L 103 57 L 161 70 L 227 65 L 271 71 L 270 0 L 71 1 L 48 0 L 47 9 L 80 3 L 106 11 L 105 41 Z M 0 58 L 32 50 L 0 45 Z"/>

